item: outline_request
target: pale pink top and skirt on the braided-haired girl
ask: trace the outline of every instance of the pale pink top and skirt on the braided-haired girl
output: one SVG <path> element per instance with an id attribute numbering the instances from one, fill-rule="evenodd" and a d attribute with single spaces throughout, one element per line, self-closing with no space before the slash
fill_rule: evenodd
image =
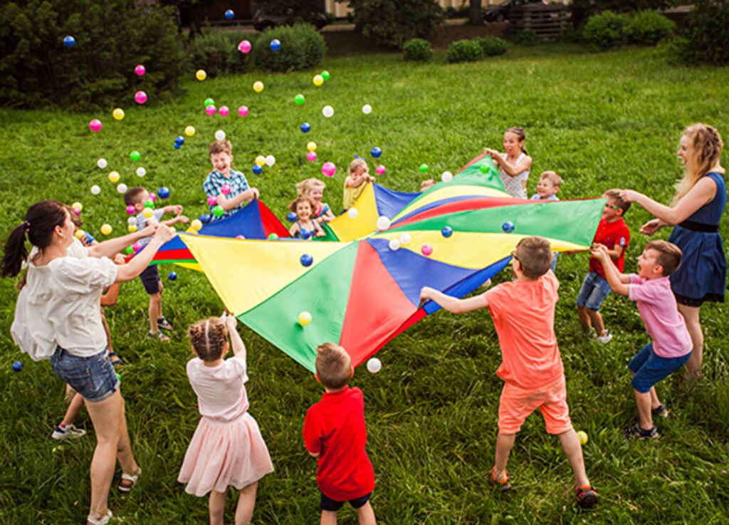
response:
<path id="1" fill-rule="evenodd" d="M 261 431 L 248 413 L 246 362 L 237 357 L 206 367 L 198 357 L 187 363 L 187 377 L 198 394 L 203 416 L 192 435 L 177 481 L 185 491 L 204 496 L 260 480 L 273 472 Z"/>

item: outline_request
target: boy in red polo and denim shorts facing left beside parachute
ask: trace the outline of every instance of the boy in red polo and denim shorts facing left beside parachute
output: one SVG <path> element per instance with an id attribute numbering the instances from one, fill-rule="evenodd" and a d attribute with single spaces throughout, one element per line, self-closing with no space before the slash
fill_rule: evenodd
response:
<path id="1" fill-rule="evenodd" d="M 625 249 L 631 241 L 631 230 L 625 224 L 623 215 L 631 207 L 631 203 L 623 201 L 617 190 L 607 190 L 602 196 L 607 197 L 607 203 L 602 209 L 602 219 L 597 227 L 594 242 L 607 248 L 612 263 L 622 272 Z M 582 282 L 575 303 L 577 303 L 577 316 L 580 317 L 582 324 L 582 333 L 590 337 L 595 327 L 596 338 L 600 343 L 609 343 L 612 339 L 612 334 L 605 328 L 599 311 L 602 302 L 609 294 L 610 285 L 607 283 L 602 264 L 595 257 L 590 257 L 590 273 Z"/>

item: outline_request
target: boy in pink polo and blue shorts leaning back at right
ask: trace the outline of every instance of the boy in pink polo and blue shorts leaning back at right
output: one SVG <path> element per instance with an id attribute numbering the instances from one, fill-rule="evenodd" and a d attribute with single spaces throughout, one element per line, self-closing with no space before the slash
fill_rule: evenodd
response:
<path id="1" fill-rule="evenodd" d="M 593 256 L 609 262 L 604 246 Z M 631 385 L 636 394 L 638 423 L 625 429 L 625 437 L 658 437 L 652 413 L 666 417 L 655 384 L 679 370 L 691 356 L 692 343 L 684 318 L 679 314 L 668 276 L 681 264 L 681 249 L 667 241 L 650 241 L 638 257 L 639 273 L 625 275 L 614 265 L 603 264 L 612 291 L 636 301 L 645 331 L 652 341 L 631 359 Z"/>

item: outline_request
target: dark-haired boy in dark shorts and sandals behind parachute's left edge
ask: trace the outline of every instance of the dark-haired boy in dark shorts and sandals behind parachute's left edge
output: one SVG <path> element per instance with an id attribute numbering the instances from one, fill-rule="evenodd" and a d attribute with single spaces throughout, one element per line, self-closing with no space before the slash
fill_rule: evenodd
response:
<path id="1" fill-rule="evenodd" d="M 178 222 L 182 222 L 183 224 L 190 222 L 190 219 L 182 215 L 182 206 L 179 204 L 157 209 L 153 208 L 152 214 L 149 217 L 145 217 L 144 205 L 150 200 L 149 195 L 151 194 L 147 190 L 139 186 L 130 188 L 124 194 L 124 203 L 127 206 L 134 206 L 137 213 L 136 221 L 139 230 L 143 230 L 147 225 L 154 222 L 160 222 L 167 226 L 175 225 Z M 149 212 L 147 213 L 149 214 Z M 174 213 L 175 217 L 163 221 L 162 217 L 168 213 Z M 141 239 L 139 244 L 144 246 L 151 240 L 152 237 L 149 236 Z M 144 290 L 149 295 L 149 333 L 147 335 L 150 339 L 167 343 L 170 341 L 170 338 L 163 334 L 162 330 L 172 330 L 172 325 L 162 314 L 162 290 L 164 287 L 162 286 L 162 281 L 160 281 L 160 272 L 157 270 L 157 265 L 147 266 L 147 269 L 141 273 L 139 279 L 141 279 L 141 284 L 144 285 Z"/>

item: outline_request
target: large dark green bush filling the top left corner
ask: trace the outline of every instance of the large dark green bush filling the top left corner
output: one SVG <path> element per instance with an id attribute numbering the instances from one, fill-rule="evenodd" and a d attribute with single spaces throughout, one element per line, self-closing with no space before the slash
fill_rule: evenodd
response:
<path id="1" fill-rule="evenodd" d="M 44 0 L 0 7 L 0 104 L 70 109 L 150 101 L 177 87 L 185 61 L 171 8 L 133 0 Z M 63 45 L 74 36 L 73 47 Z M 144 64 L 147 74 L 134 73 Z"/>

